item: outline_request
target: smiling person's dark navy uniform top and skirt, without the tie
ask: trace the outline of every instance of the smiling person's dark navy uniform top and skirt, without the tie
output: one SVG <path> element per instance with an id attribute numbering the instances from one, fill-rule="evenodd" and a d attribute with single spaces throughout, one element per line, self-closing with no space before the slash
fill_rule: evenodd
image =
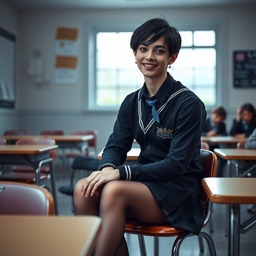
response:
<path id="1" fill-rule="evenodd" d="M 142 182 L 174 227 L 198 235 L 204 223 L 199 199 L 199 176 L 204 173 L 200 158 L 204 103 L 169 73 L 154 95 L 159 123 L 145 97 L 144 83 L 121 104 L 99 170 L 113 166 L 119 169 L 120 180 Z M 122 165 L 134 138 L 141 148 L 138 165 Z"/>

